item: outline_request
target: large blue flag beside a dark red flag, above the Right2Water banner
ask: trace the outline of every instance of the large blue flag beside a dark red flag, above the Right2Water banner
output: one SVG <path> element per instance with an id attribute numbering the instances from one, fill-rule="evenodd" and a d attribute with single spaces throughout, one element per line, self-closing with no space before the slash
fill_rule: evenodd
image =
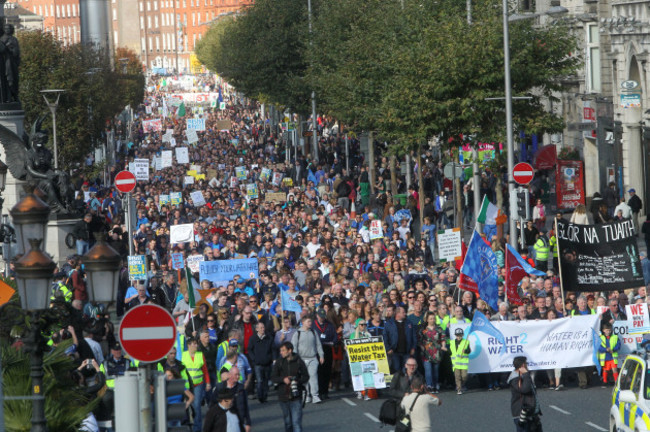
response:
<path id="1" fill-rule="evenodd" d="M 476 282 L 478 294 L 493 310 L 499 309 L 497 257 L 476 230 L 467 247 L 467 255 L 460 272 Z"/>

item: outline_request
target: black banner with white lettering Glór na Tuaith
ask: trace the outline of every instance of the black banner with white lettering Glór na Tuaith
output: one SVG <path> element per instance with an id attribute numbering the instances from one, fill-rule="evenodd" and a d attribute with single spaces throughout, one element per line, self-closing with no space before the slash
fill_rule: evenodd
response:
<path id="1" fill-rule="evenodd" d="M 632 220 L 603 225 L 557 221 L 565 291 L 612 291 L 644 286 Z"/>

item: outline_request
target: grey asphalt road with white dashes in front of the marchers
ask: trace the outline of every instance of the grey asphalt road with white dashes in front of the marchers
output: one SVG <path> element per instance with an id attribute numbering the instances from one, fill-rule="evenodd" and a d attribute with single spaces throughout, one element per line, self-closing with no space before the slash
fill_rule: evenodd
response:
<path id="1" fill-rule="evenodd" d="M 612 388 L 588 390 L 569 388 L 563 391 L 539 390 L 546 431 L 607 431 Z M 514 430 L 510 419 L 510 391 L 470 391 L 462 396 L 442 392 L 442 406 L 433 408 L 433 430 L 455 425 L 457 431 L 503 432 Z M 307 405 L 303 411 L 305 431 L 390 432 L 380 428 L 377 420 L 383 400 L 361 401 L 353 394 L 338 392 L 320 405 Z M 260 405 L 250 401 L 254 432 L 284 430 L 282 412 L 275 398 Z"/>

